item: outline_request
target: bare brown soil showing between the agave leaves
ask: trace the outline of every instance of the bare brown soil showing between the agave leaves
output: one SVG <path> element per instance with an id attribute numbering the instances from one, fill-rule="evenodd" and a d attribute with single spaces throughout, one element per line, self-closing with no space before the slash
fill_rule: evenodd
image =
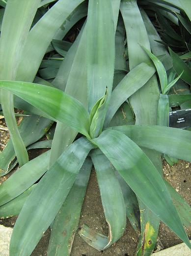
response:
<path id="1" fill-rule="evenodd" d="M 2 123 L 2 125 L 5 125 Z M 0 130 L 0 142 L 6 144 L 8 140 L 8 133 Z M 3 146 L 0 145 L 0 150 Z M 30 159 L 42 153 L 42 150 L 30 150 Z M 164 161 L 164 178 L 179 192 L 186 201 L 191 205 L 191 163 L 179 161 L 174 166 L 169 166 Z M 0 177 L 0 184 L 3 183 L 14 172 L 11 171 L 8 175 Z M 17 217 L 0 220 L 0 224 L 13 227 Z M 90 180 L 87 186 L 84 203 L 82 206 L 81 218 L 79 222 L 79 229 L 85 223 L 94 230 L 108 234 L 108 225 L 104 217 L 104 211 L 101 203 L 100 192 L 96 180 L 95 171 L 92 170 Z M 186 230 L 191 239 L 191 231 Z M 43 235 L 42 239 L 36 246 L 31 256 L 47 256 L 48 243 L 50 238 L 50 229 Z M 171 247 L 179 244 L 182 241 L 164 224 L 161 223 L 158 244 L 161 249 Z M 105 251 L 97 251 L 87 245 L 76 232 L 71 256 L 134 256 L 136 246 L 138 243 L 138 236 L 127 221 L 126 230 L 122 238 L 120 238 L 114 245 Z"/>

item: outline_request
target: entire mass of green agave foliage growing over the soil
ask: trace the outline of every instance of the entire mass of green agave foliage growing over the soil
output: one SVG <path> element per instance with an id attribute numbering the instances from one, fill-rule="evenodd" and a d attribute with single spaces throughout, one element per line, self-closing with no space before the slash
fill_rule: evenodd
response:
<path id="1" fill-rule="evenodd" d="M 191 2 L 0 4 L 6 6 L 0 9 L 1 107 L 11 135 L 0 154 L 0 175 L 6 175 L 17 160 L 20 165 L 0 186 L 0 216 L 19 214 L 10 256 L 30 256 L 50 225 L 48 255 L 70 255 L 92 164 L 109 235 L 84 224 L 80 235 L 89 245 L 98 250 L 111 246 L 123 235 L 128 217 L 140 233 L 137 256 L 151 255 L 161 220 L 191 248 L 183 226 L 191 229 L 190 206 L 164 181 L 161 160 L 162 153 L 191 161 L 191 132 L 167 127 L 169 106 L 191 102 Z M 161 26 L 167 18 L 168 31 L 157 32 L 151 22 L 156 15 Z M 85 16 L 76 40 L 62 40 Z M 178 22 L 181 36 L 172 26 Z M 181 38 L 171 45 L 174 33 Z M 164 44 L 183 54 L 179 57 L 170 50 L 170 57 Z M 161 94 L 149 57 L 159 75 Z M 168 96 L 171 87 L 187 94 Z M 19 127 L 13 107 L 30 114 Z M 53 121 L 53 140 L 35 143 Z M 81 136 L 75 139 L 78 133 Z M 51 150 L 28 161 L 26 146 Z"/>

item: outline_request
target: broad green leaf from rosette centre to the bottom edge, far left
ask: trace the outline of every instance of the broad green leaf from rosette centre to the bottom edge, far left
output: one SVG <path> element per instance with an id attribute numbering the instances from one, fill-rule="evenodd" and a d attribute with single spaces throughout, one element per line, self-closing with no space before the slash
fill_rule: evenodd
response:
<path id="1" fill-rule="evenodd" d="M 63 152 L 42 177 L 15 223 L 10 256 L 30 256 L 43 232 L 55 219 L 91 149 L 92 144 L 80 138 Z"/>

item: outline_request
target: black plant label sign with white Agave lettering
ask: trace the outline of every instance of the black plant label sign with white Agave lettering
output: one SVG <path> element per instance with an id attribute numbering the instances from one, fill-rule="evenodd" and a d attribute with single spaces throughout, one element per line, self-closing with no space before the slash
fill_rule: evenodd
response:
<path id="1" fill-rule="evenodd" d="M 191 127 L 191 109 L 169 112 L 169 126 L 174 128 Z"/>

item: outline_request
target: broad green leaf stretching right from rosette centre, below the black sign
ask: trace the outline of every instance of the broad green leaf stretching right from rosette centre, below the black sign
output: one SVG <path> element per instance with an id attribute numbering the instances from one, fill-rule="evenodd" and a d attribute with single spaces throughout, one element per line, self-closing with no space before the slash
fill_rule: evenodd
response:
<path id="1" fill-rule="evenodd" d="M 159 125 L 125 125 L 111 128 L 124 133 L 138 146 L 191 161 L 190 131 Z"/>

